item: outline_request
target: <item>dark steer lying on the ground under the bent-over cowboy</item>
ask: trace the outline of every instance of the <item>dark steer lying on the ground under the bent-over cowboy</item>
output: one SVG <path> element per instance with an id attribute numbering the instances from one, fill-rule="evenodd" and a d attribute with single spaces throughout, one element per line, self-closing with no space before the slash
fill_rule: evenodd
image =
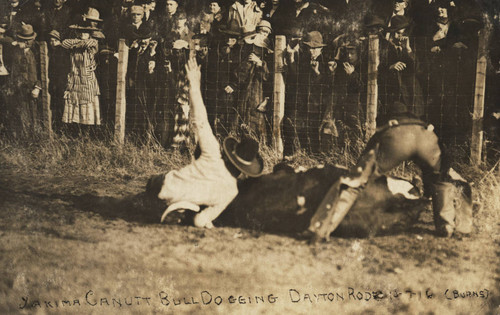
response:
<path id="1" fill-rule="evenodd" d="M 328 189 L 347 170 L 334 166 L 295 173 L 291 168 L 239 184 L 239 194 L 217 220 L 219 225 L 271 233 L 307 230 Z M 368 182 L 353 208 L 335 231 L 342 236 L 369 236 L 404 229 L 425 205 L 394 195 L 387 178 Z"/>

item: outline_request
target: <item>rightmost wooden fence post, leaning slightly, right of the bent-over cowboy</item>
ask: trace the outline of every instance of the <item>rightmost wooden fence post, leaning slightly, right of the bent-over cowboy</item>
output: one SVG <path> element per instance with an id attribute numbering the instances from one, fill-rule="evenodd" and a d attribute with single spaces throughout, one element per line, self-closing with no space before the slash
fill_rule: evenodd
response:
<path id="1" fill-rule="evenodd" d="M 476 85 L 474 91 L 474 111 L 472 113 L 472 138 L 470 158 L 473 165 L 481 163 L 483 147 L 484 94 L 486 89 L 486 32 L 479 32 L 476 63 Z"/>

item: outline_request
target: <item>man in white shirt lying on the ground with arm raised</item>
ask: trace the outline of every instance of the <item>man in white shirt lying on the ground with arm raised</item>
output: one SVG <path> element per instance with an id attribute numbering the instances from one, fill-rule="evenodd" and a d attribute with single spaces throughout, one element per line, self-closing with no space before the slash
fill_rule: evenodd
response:
<path id="1" fill-rule="evenodd" d="M 186 65 L 193 124 L 201 155 L 188 166 L 152 177 L 146 192 L 167 205 L 162 221 L 172 211 L 192 210 L 197 227 L 212 228 L 212 221 L 238 194 L 237 177 L 243 173 L 260 176 L 264 164 L 255 140 L 243 138 L 238 142 L 228 137 L 221 153 L 219 143 L 208 123 L 200 89 L 200 68 L 194 58 Z"/>

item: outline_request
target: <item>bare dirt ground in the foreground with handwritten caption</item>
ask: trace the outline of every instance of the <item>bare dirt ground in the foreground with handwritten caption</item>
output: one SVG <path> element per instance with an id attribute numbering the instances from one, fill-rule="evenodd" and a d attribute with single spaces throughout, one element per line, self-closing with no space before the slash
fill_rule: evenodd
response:
<path id="1" fill-rule="evenodd" d="M 500 314 L 498 213 L 463 239 L 435 237 L 427 211 L 312 246 L 160 224 L 134 197 L 146 179 L 1 167 L 0 313 Z"/>

